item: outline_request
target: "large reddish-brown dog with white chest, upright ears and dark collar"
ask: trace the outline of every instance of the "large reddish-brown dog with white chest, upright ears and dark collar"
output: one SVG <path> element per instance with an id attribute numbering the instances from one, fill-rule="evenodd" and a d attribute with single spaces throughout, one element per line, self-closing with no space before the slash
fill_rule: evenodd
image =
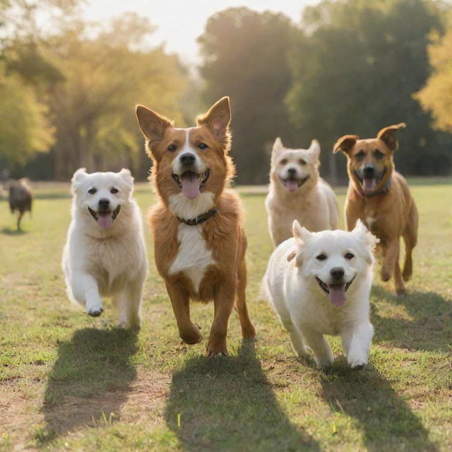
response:
<path id="1" fill-rule="evenodd" d="M 189 299 L 209 302 L 215 315 L 207 355 L 227 355 L 226 335 L 234 299 L 244 338 L 256 335 L 246 309 L 246 237 L 239 196 L 225 189 L 234 174 L 230 150 L 230 103 L 223 97 L 197 119 L 175 129 L 172 122 L 138 105 L 136 116 L 153 160 L 158 201 L 150 215 L 155 263 L 165 279 L 179 335 L 201 341 L 190 319 Z"/>

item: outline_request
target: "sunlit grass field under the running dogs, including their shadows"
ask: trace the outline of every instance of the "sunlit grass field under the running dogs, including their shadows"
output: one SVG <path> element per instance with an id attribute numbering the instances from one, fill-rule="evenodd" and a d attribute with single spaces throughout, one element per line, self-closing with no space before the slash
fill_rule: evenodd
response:
<path id="1" fill-rule="evenodd" d="M 299 362 L 258 298 L 272 251 L 264 195 L 244 190 L 249 309 L 256 346 L 230 321 L 230 357 L 182 345 L 153 262 L 143 328 L 119 331 L 107 302 L 93 319 L 66 299 L 60 258 L 69 191 L 37 190 L 25 232 L 0 201 L 0 450 L 451 451 L 452 185 L 412 186 L 420 210 L 409 295 L 375 280 L 369 367 Z M 338 190 L 341 205 L 344 190 Z M 153 197 L 141 185 L 143 211 Z M 213 306 L 196 305 L 206 336 Z"/>

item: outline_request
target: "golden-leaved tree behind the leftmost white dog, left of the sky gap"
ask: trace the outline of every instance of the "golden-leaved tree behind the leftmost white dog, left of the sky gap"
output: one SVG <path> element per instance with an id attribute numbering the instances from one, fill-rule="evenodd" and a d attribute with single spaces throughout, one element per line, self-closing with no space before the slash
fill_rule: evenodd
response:
<path id="1" fill-rule="evenodd" d="M 124 33 L 117 36 L 113 28 Z M 129 13 L 97 30 L 94 38 L 86 37 L 85 25 L 76 24 L 50 40 L 47 58 L 63 76 L 48 97 L 57 179 L 67 179 L 78 167 L 138 170 L 143 154 L 133 110 L 138 102 L 184 124 L 179 102 L 187 76 L 177 57 L 160 47 L 136 49 L 152 31 L 147 19 Z"/>

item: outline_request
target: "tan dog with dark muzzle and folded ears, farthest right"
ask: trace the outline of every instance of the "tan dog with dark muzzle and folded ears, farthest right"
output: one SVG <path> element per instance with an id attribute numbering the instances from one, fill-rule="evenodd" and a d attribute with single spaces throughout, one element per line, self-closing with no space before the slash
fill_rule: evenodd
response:
<path id="1" fill-rule="evenodd" d="M 376 138 L 360 140 L 345 135 L 335 143 L 333 152 L 342 150 L 347 156 L 350 184 L 345 202 L 347 230 L 358 218 L 367 223 L 380 239 L 383 256 L 381 280 L 394 276 L 398 295 L 405 294 L 403 281 L 412 274 L 412 249 L 417 243 L 417 208 L 406 180 L 394 169 L 393 154 L 398 148 L 396 131 L 405 124 L 381 129 Z M 400 270 L 400 236 L 405 241 L 405 264 Z"/>

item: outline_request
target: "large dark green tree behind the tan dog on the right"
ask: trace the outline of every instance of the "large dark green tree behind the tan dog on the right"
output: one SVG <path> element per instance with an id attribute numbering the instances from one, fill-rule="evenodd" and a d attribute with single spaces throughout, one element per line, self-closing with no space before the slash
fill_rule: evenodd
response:
<path id="1" fill-rule="evenodd" d="M 294 126 L 321 141 L 324 168 L 333 175 L 331 162 L 345 167 L 328 155 L 339 136 L 372 137 L 402 121 L 408 129 L 400 136 L 398 169 L 449 170 L 440 162 L 451 137 L 432 131 L 429 114 L 412 97 L 429 76 L 427 44 L 434 29 L 441 30 L 439 13 L 423 0 L 324 0 L 307 8 L 304 34 L 292 53 L 287 103 Z"/>

